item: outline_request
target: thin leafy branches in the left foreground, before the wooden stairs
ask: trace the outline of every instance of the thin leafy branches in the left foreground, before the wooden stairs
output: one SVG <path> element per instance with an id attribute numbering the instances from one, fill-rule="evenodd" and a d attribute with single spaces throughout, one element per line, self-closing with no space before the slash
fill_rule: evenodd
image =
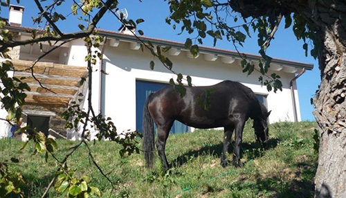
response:
<path id="1" fill-rule="evenodd" d="M 6 59 L 5 61 L 1 62 L 0 66 L 0 76 L 1 82 L 3 84 L 3 87 L 1 87 L 1 102 L 6 111 L 8 111 L 7 120 L 8 122 L 10 122 L 11 120 L 19 119 L 19 117 L 21 116 L 21 105 L 24 105 L 26 98 L 26 93 L 24 93 L 24 91 L 30 91 L 30 87 L 28 87 L 28 84 L 21 82 L 22 79 L 10 78 L 8 76 L 8 73 L 10 71 L 13 71 L 12 62 L 10 62 L 11 57 L 8 55 L 9 48 L 24 46 L 27 44 L 38 44 L 41 51 L 43 52 L 43 42 L 48 42 L 48 44 L 52 46 L 51 50 L 42 53 L 42 55 L 38 57 L 30 67 L 33 78 L 37 80 L 33 72 L 33 69 L 37 62 L 42 60 L 42 58 L 48 53 L 51 53 L 67 42 L 71 42 L 74 39 L 84 39 L 86 48 L 88 50 L 88 54 L 85 57 L 85 61 L 88 63 L 89 71 L 88 109 L 87 111 L 81 111 L 78 105 L 72 104 L 71 107 L 69 107 L 69 109 L 62 115 L 63 118 L 68 120 L 68 122 L 66 123 L 66 127 L 68 128 L 73 128 L 78 131 L 80 129 L 80 125 L 83 125 L 81 130 L 82 140 L 73 147 L 73 150 L 71 150 L 69 154 L 66 154 L 62 161 L 60 161 L 54 154 L 55 150 L 57 150 L 57 142 L 53 138 L 47 138 L 42 132 L 37 132 L 35 129 L 33 129 L 33 134 L 28 135 L 28 142 L 24 143 L 24 146 L 21 148 L 21 150 L 24 150 L 24 148 L 26 148 L 26 146 L 30 142 L 33 142 L 33 155 L 44 154 L 44 159 L 46 162 L 48 162 L 48 156 L 52 156 L 53 159 L 55 159 L 55 161 L 60 164 L 60 167 L 58 167 L 56 170 L 55 177 L 53 177 L 51 183 L 47 186 L 47 190 L 46 192 L 44 192 L 42 197 L 45 197 L 49 188 L 51 188 L 52 186 L 51 184 L 54 181 L 55 190 L 57 190 L 57 192 L 62 192 L 63 196 L 66 195 L 68 197 L 88 197 L 89 195 L 93 194 L 100 196 L 100 191 L 98 190 L 98 188 L 89 186 L 90 181 L 86 176 L 83 176 L 82 179 L 78 179 L 78 177 L 75 177 L 75 170 L 77 169 L 73 169 L 73 171 L 71 171 L 69 168 L 67 168 L 67 161 L 69 157 L 76 150 L 78 150 L 78 147 L 80 145 L 84 144 L 86 145 L 86 147 L 89 147 L 89 143 L 85 141 L 91 134 L 91 130 L 86 128 L 88 123 L 90 123 L 91 128 L 93 128 L 96 132 L 95 136 L 99 140 L 107 138 L 122 145 L 123 148 L 119 150 L 120 154 L 125 155 L 127 153 L 132 154 L 134 152 L 139 153 L 138 147 L 135 146 L 135 139 L 136 136 L 139 136 L 139 134 L 137 132 L 126 132 L 125 134 L 118 134 L 116 132 L 116 126 L 111 122 L 111 119 L 102 118 L 102 115 L 95 115 L 91 104 L 92 66 L 96 64 L 97 59 L 102 59 L 102 53 L 94 49 L 100 47 L 100 44 L 103 42 L 103 38 L 97 35 L 98 31 L 95 30 L 95 27 L 105 12 L 111 11 L 115 15 L 113 10 L 116 9 L 118 1 L 91 0 L 80 1 L 80 3 L 77 3 L 77 1 L 71 2 L 71 14 L 73 14 L 76 19 L 78 19 L 76 21 L 80 21 L 80 23 L 77 25 L 80 30 L 75 33 L 63 33 L 58 26 L 60 21 L 66 20 L 67 16 L 59 13 L 60 6 L 62 5 L 62 3 L 66 2 L 46 2 L 43 0 L 35 0 L 34 2 L 37 8 L 39 8 L 40 12 L 37 17 L 33 17 L 33 23 L 41 27 L 42 29 L 28 29 L 27 32 L 31 34 L 30 39 L 16 40 L 14 34 L 7 29 L 8 19 L 0 17 L 0 57 Z M 10 6 L 9 0 L 1 0 L 0 3 L 0 8 L 6 8 Z M 17 0 L 17 3 L 19 3 L 19 0 Z M 118 19 L 121 19 L 123 24 L 131 24 L 136 26 L 136 24 L 143 22 L 143 19 L 138 19 L 136 20 L 135 24 L 135 22 L 132 20 L 123 19 L 121 15 L 116 15 L 116 17 L 118 17 Z M 166 62 L 169 63 L 168 61 Z M 85 81 L 86 79 L 82 79 L 81 83 Z M 51 91 L 46 87 L 43 88 L 47 91 Z M 22 129 L 22 131 L 26 129 L 28 128 Z M 98 163 L 93 160 L 93 154 L 90 151 L 89 159 L 93 161 L 93 165 L 95 165 L 95 167 L 98 168 L 103 176 L 107 178 L 107 176 L 102 172 L 102 169 L 98 166 Z M 15 180 L 13 179 L 16 178 L 13 177 L 14 174 L 12 174 L 12 172 L 7 169 L 7 165 L 8 163 L 1 163 L 1 170 L 3 170 L 2 179 L 4 180 L 4 182 L 1 184 L 0 190 L 6 191 L 5 194 L 11 192 L 19 193 L 20 188 L 17 188 L 17 186 L 19 185 L 18 183 L 22 181 L 21 174 L 17 174 L 18 181 L 15 182 Z"/>

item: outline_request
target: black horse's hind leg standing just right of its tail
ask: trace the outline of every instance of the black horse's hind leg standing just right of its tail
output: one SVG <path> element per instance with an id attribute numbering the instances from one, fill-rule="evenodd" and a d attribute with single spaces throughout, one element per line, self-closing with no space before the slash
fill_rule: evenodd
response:
<path id="1" fill-rule="evenodd" d="M 165 167 L 165 171 L 168 170 L 168 162 L 165 154 L 165 146 L 166 146 L 166 141 L 168 138 L 168 135 L 170 134 L 170 129 L 173 125 L 172 123 L 167 123 L 167 125 L 164 126 L 158 126 L 157 127 L 157 141 L 156 141 L 156 147 L 158 151 L 158 155 L 161 158 L 161 161 Z"/>

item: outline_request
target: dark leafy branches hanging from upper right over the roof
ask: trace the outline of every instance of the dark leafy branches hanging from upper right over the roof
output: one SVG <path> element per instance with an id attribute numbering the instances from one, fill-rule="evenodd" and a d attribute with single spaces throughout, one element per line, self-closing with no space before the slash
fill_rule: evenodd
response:
<path id="1" fill-rule="evenodd" d="M 285 18 L 285 28 L 289 28 L 293 24 L 293 33 L 297 39 L 304 41 L 302 48 L 305 50 L 305 55 L 307 55 L 309 41 L 313 42 L 311 55 L 315 58 L 318 55 L 319 44 L 315 28 L 302 15 L 298 13 L 291 15 L 291 12 L 286 12 L 284 8 L 283 11 L 280 8 L 266 8 L 257 3 L 250 3 L 251 5 L 240 3 L 243 6 L 239 6 L 236 1 L 212 0 L 169 1 L 168 4 L 170 5 L 170 17 L 166 18 L 166 23 L 172 25 L 174 29 L 180 26 L 181 33 L 185 31 L 190 35 L 195 35 L 194 42 L 191 38 L 186 39 L 185 42 L 185 47 L 190 48 L 190 53 L 194 56 L 198 53 L 196 43 L 203 44 L 203 39 L 207 36 L 214 39 L 214 46 L 219 39 L 227 39 L 237 49 L 238 46 L 243 46 L 246 37 L 251 37 L 250 29 L 252 28 L 253 32 L 257 33 L 257 43 L 260 47 L 261 58 L 258 65 L 260 69 L 248 61 L 246 55 L 239 51 L 238 53 L 243 59 L 241 62 L 243 72 L 248 75 L 253 71 L 260 73 L 259 81 L 267 87 L 268 91 L 282 91 L 280 75 L 267 74 L 272 58 L 266 54 L 266 48 L 270 45 L 283 17 Z M 253 10 L 251 10 L 251 6 L 253 6 Z M 242 10 L 243 8 L 248 8 L 248 10 Z M 252 17 L 251 21 L 248 21 L 248 17 Z M 239 18 L 242 18 L 242 22 L 239 21 Z"/>

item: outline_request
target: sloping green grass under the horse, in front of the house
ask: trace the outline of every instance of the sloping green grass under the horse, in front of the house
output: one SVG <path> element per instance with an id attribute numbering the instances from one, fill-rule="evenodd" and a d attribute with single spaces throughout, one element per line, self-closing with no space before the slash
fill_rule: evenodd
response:
<path id="1" fill-rule="evenodd" d="M 143 154 L 120 157 L 116 143 L 91 142 L 95 161 L 115 183 L 115 189 L 91 163 L 85 145 L 71 156 L 68 165 L 77 170 L 76 174 L 88 175 L 91 186 L 102 190 L 103 197 L 313 197 L 317 166 L 317 154 L 313 151 L 315 128 L 316 123 L 311 122 L 270 125 L 268 149 L 263 150 L 255 142 L 251 123 L 247 123 L 242 144 L 244 168 L 222 168 L 219 164 L 222 131 L 198 129 L 170 135 L 166 154 L 174 168 L 166 174 L 158 156 L 154 168 L 147 169 L 143 166 Z M 63 140 L 57 143 L 55 155 L 60 160 L 76 144 Z M 22 145 L 20 141 L 1 139 L 0 161 L 17 157 L 19 163 L 10 163 L 10 169 L 24 175 L 26 185 L 21 188 L 26 197 L 41 197 L 54 177 L 57 162 L 49 157 L 46 163 L 44 155 L 32 155 L 32 143 L 20 151 Z M 228 159 L 232 159 L 232 154 L 228 154 Z M 51 189 L 49 197 L 58 196 Z"/>

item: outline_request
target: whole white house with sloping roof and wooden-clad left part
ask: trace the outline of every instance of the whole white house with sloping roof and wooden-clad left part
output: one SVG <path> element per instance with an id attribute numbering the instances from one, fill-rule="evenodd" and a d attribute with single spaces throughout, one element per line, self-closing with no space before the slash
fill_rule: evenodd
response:
<path id="1" fill-rule="evenodd" d="M 28 34 L 21 26 L 8 26 L 16 39 L 26 39 Z M 122 32 L 100 30 L 98 33 L 104 37 L 104 43 L 96 49 L 103 54 L 102 60 L 93 67 L 92 89 L 93 110 L 96 113 L 111 117 L 118 131 L 127 129 L 141 131 L 142 110 L 148 93 L 160 89 L 168 84 L 171 78 L 175 79 L 172 72 L 165 69 L 159 60 L 147 50 L 140 50 L 140 42 L 134 35 Z M 278 121 L 300 120 L 300 107 L 296 78 L 305 70 L 313 69 L 313 64 L 293 62 L 289 60 L 273 59 L 270 73 L 281 76 L 282 91 L 268 92 L 265 86 L 258 82 L 259 73 L 249 76 L 242 73 L 241 58 L 235 51 L 219 48 L 199 46 L 198 57 L 192 57 L 185 49 L 183 43 L 163 39 L 137 36 L 144 42 L 150 41 L 154 46 L 172 46 L 165 55 L 173 62 L 176 73 L 190 75 L 194 86 L 216 84 L 222 80 L 239 81 L 250 87 L 260 98 L 264 105 L 271 110 L 270 123 Z M 51 47 L 44 44 L 44 50 Z M 25 69 L 42 55 L 39 46 L 21 46 L 12 49 L 12 58 L 15 69 Z M 55 131 L 66 135 L 66 130 L 61 127 L 63 120 L 60 114 L 72 101 L 86 107 L 86 86 L 80 85 L 80 78 L 87 79 L 86 62 L 84 57 L 86 48 L 82 40 L 64 44 L 53 53 L 44 57 L 37 63 L 34 74 L 40 82 L 55 93 L 39 87 L 38 83 L 30 78 L 30 73 L 15 71 L 15 76 L 26 76 L 32 91 L 27 92 L 28 100 L 24 113 L 24 120 L 28 125 L 41 127 L 48 132 Z M 260 56 L 246 54 L 246 57 L 255 66 L 258 66 Z M 149 62 L 154 60 L 155 68 L 149 68 Z M 102 72 L 104 71 L 104 72 Z M 107 74 L 105 74 L 107 73 Z M 282 105 L 284 104 L 284 105 Z M 1 128 L 1 126 L 0 126 Z M 174 132 L 189 130 L 183 125 L 174 125 Z M 1 132 L 3 136 L 4 132 Z M 69 138 L 78 138 L 75 133 L 68 133 Z"/>

